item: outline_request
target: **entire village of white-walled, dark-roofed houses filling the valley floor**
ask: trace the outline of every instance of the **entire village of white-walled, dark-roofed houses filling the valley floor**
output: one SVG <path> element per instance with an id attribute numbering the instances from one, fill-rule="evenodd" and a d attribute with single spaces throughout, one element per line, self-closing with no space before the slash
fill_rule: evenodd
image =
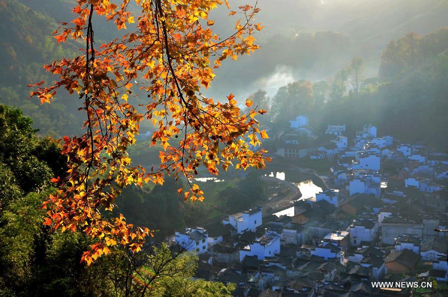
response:
<path id="1" fill-rule="evenodd" d="M 333 160 L 326 189 L 294 203 L 293 216 L 260 207 L 176 232 L 199 255 L 197 278 L 234 283 L 234 296 L 409 296 L 372 281 L 448 281 L 446 154 L 378 136 L 364 125 L 314 139 L 306 116 L 282 134 L 284 158 Z M 442 231 L 441 231 L 442 230 Z"/>

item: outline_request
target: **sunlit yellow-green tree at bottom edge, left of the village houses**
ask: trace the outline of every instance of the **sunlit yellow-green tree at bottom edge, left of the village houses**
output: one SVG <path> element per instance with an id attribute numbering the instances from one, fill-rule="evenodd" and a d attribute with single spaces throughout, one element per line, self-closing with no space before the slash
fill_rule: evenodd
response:
<path id="1" fill-rule="evenodd" d="M 177 251 L 175 251 L 177 250 Z M 235 286 L 193 280 L 198 257 L 179 246 L 146 246 L 139 253 L 114 251 L 106 258 L 116 296 L 231 296 Z"/>

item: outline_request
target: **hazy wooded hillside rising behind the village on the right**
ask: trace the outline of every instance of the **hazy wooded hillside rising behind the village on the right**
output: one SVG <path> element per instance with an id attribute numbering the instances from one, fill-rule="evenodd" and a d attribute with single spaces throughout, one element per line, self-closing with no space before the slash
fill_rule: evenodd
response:
<path id="1" fill-rule="evenodd" d="M 329 123 L 345 123 L 349 136 L 362 124 L 372 123 L 380 134 L 444 150 L 448 28 L 424 36 L 408 33 L 392 40 L 382 53 L 378 77 L 366 77 L 363 63 L 356 57 L 331 80 L 302 80 L 281 87 L 270 98 L 273 122 L 265 123 L 271 128 L 286 127 L 296 114 L 308 114 L 310 124 L 320 133 Z M 265 102 L 264 96 L 257 92 L 253 100 Z"/>

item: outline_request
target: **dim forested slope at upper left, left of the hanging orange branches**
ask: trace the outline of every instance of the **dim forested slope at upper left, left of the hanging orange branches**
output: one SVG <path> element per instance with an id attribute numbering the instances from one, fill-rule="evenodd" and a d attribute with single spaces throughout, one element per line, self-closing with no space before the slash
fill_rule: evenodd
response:
<path id="1" fill-rule="evenodd" d="M 44 2 L 48 4 L 50 1 Z M 54 2 L 57 4 L 59 1 Z M 65 6 L 61 11 L 69 9 Z M 0 0 L 0 19 L 0 102 L 20 107 L 25 114 L 32 115 L 35 126 L 45 135 L 73 133 L 72 127 L 81 122 L 76 111 L 78 102 L 62 95 L 54 104 L 41 106 L 40 102 L 28 99 L 27 85 L 49 80 L 50 76 L 42 65 L 63 56 L 72 56 L 75 44 L 57 44 L 51 36 L 57 27 L 55 20 L 18 0 Z"/>

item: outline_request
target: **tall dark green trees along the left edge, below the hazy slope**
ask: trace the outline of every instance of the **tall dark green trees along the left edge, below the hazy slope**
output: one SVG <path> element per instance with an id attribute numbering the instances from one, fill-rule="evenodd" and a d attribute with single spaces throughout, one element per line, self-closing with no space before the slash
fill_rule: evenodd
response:
<path id="1" fill-rule="evenodd" d="M 50 178 L 65 175 L 58 142 L 39 139 L 30 118 L 0 105 L 0 296 L 104 296 L 103 269 L 79 262 L 91 239 L 43 225 Z M 38 192 L 38 193 L 36 193 Z"/>

